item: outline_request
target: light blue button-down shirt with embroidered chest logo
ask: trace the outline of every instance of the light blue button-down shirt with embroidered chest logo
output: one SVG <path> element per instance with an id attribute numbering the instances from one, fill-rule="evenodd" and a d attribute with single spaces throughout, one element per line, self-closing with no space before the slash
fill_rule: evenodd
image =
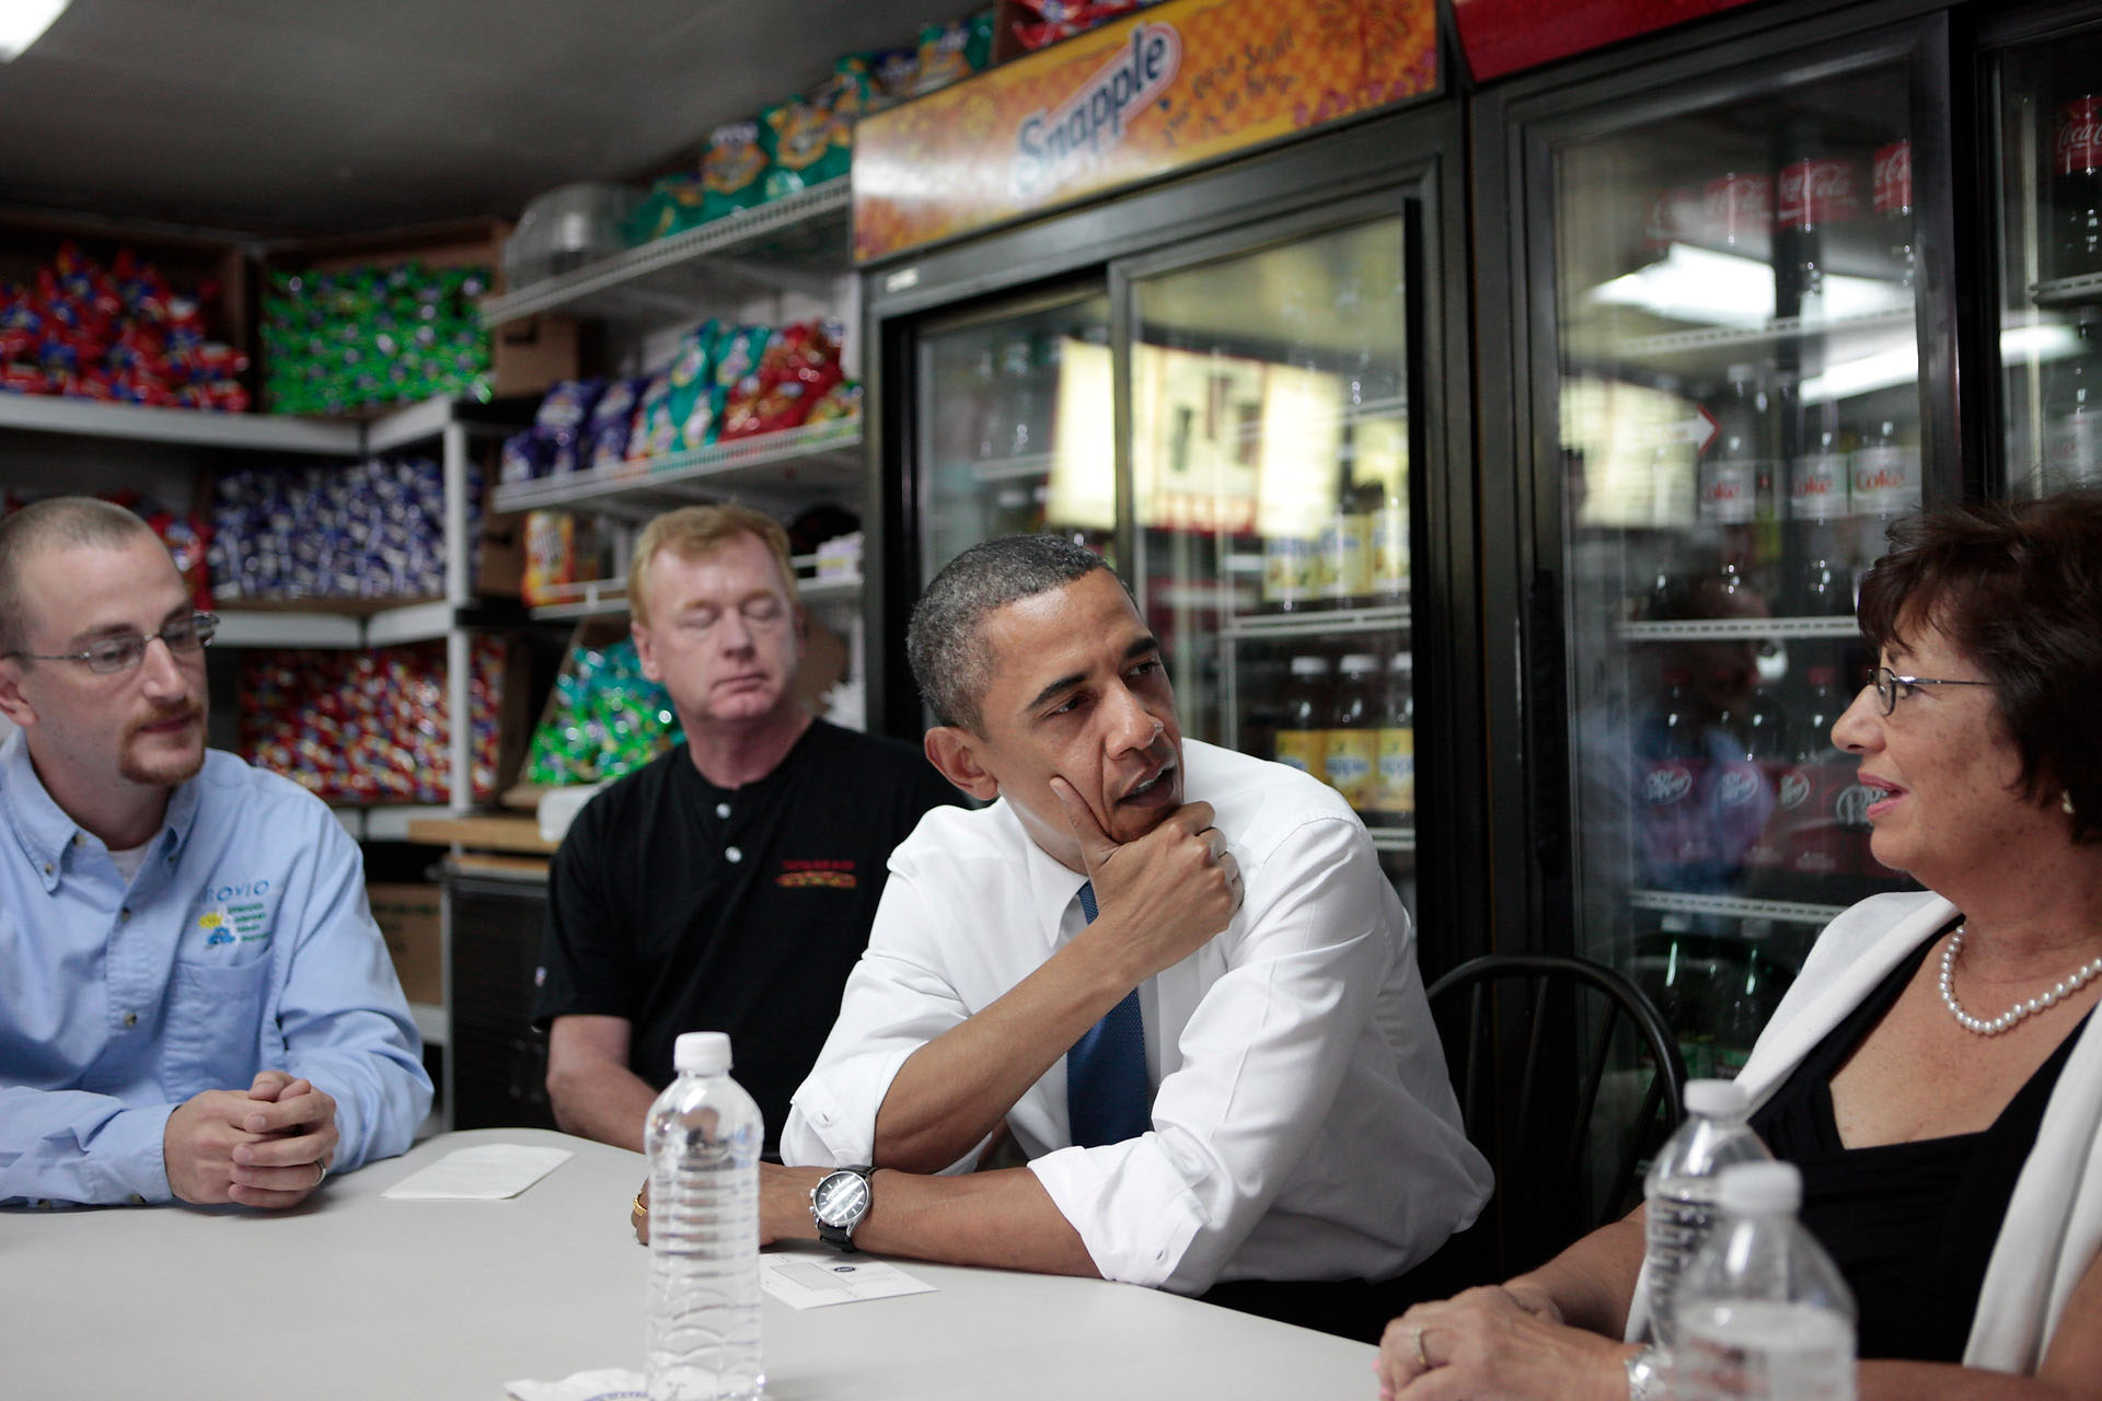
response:
<path id="1" fill-rule="evenodd" d="M 206 752 L 126 882 L 15 733 L 0 828 L 0 1204 L 172 1199 L 168 1115 L 265 1069 L 334 1096 L 334 1170 L 410 1145 L 423 1046 L 317 798 Z"/>

